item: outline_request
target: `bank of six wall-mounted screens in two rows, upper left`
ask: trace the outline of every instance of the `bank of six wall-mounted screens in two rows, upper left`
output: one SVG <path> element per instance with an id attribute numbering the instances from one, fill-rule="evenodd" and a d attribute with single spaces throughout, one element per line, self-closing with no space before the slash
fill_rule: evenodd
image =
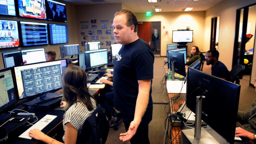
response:
<path id="1" fill-rule="evenodd" d="M 64 3 L 53 0 L 0 0 L 0 15 L 24 18 L 19 22 L 0 20 L 0 49 L 68 42 L 67 25 L 29 22 L 29 19 L 67 22 Z"/>

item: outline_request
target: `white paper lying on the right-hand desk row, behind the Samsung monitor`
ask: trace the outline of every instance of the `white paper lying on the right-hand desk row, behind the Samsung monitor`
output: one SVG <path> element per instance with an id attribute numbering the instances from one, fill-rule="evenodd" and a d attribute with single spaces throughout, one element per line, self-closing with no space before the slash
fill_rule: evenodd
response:
<path id="1" fill-rule="evenodd" d="M 166 81 L 166 88 L 167 88 L 167 93 L 181 93 L 186 94 L 187 90 L 187 83 L 182 87 L 184 84 L 184 81 Z"/>

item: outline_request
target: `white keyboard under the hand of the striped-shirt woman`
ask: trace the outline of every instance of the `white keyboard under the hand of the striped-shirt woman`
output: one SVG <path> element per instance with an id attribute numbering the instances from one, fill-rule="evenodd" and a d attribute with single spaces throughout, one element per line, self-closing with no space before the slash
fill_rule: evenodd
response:
<path id="1" fill-rule="evenodd" d="M 36 122 L 33 126 L 31 126 L 29 129 L 27 129 L 24 133 L 22 133 L 19 138 L 26 138 L 26 139 L 32 139 L 30 136 L 28 136 L 28 132 L 32 129 L 38 129 L 42 130 L 45 128 L 50 122 L 52 122 L 55 118 L 57 118 L 56 115 L 50 115 L 46 114 L 43 118 L 41 118 L 38 122 Z"/>

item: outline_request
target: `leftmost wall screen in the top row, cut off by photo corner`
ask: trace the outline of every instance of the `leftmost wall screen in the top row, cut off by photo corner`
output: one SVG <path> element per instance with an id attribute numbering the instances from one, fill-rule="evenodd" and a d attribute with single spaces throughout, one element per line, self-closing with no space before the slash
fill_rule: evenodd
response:
<path id="1" fill-rule="evenodd" d="M 14 0 L 0 1 L 0 15 L 16 16 Z"/>

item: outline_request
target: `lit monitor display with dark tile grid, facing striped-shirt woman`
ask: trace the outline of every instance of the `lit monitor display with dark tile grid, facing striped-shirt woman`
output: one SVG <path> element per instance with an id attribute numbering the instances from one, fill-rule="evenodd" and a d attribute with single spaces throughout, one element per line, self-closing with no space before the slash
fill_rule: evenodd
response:
<path id="1" fill-rule="evenodd" d="M 66 59 L 14 66 L 19 99 L 62 88 L 61 74 Z"/>

